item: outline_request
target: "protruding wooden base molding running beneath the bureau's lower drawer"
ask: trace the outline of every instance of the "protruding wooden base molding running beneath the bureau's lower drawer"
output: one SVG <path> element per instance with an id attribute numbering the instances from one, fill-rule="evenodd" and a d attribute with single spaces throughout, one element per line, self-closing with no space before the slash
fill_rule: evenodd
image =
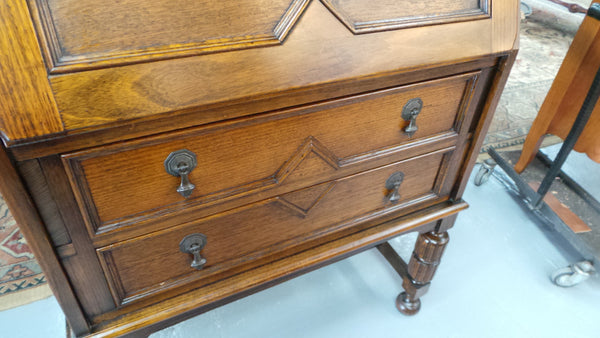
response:
<path id="1" fill-rule="evenodd" d="M 185 320 L 372 248 L 399 234 L 432 231 L 437 220 L 452 217 L 467 206 L 464 202 L 438 204 L 404 217 L 384 221 L 361 232 L 302 251 L 288 259 L 274 261 L 137 311 L 124 307 L 104 317 L 98 317 L 96 322 L 104 322 L 95 326 L 95 334 L 92 336 L 116 337 L 136 332 L 147 335 L 164 328 L 166 319 L 170 320 L 170 324 Z"/>

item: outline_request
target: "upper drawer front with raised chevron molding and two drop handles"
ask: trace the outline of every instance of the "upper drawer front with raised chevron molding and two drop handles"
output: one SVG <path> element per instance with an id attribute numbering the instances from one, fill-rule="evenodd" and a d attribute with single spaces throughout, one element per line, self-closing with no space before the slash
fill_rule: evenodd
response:
<path id="1" fill-rule="evenodd" d="M 107 232 L 275 187 L 293 191 L 397 161 L 401 157 L 375 160 L 443 135 L 456 135 L 478 74 L 68 154 L 63 159 L 90 232 Z M 418 112 L 420 104 L 422 109 L 411 124 L 408 116 Z M 408 135 L 407 128 L 416 131 Z M 189 174 L 195 189 L 187 198 L 177 192 L 181 179 L 164 166 L 169 154 L 183 149 L 197 160 Z"/>

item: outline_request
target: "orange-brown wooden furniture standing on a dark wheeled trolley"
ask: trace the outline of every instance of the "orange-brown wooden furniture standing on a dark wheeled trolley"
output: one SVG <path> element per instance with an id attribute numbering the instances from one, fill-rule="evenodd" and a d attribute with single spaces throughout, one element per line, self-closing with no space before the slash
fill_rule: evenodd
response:
<path id="1" fill-rule="evenodd" d="M 550 188 L 553 185 L 556 187 L 556 178 L 560 177 L 561 182 L 576 194 L 576 199 L 573 196 L 570 198 L 571 207 L 578 209 L 580 214 L 585 213 L 591 220 L 597 219 L 600 213 L 600 202 L 561 170 L 573 149 L 586 153 L 596 162 L 600 161 L 600 140 L 596 135 L 600 128 L 599 21 L 600 4 L 595 1 L 588 9 L 527 135 L 514 169 L 509 161 L 490 148 L 488 153 L 491 159 L 482 164 L 475 178 L 476 185 L 483 184 L 498 164 L 508 175 L 508 178 L 502 179 L 509 186 L 514 185 L 514 190 L 532 212 L 581 255 L 582 261 L 558 269 L 552 275 L 554 283 L 562 287 L 571 287 L 588 279 L 595 273 L 594 265 L 600 257 L 595 222 L 588 221 L 586 224 L 556 197 L 545 198 Z M 554 160 L 539 152 L 546 133 L 564 139 Z M 528 183 L 527 178 L 519 175 L 534 157 L 548 167 L 539 185 L 535 180 Z"/>

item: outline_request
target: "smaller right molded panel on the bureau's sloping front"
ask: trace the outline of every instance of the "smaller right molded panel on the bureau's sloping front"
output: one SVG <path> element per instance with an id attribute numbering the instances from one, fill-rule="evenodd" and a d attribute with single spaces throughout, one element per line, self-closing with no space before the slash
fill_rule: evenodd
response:
<path id="1" fill-rule="evenodd" d="M 321 0 L 354 34 L 490 18 L 491 0 Z"/>

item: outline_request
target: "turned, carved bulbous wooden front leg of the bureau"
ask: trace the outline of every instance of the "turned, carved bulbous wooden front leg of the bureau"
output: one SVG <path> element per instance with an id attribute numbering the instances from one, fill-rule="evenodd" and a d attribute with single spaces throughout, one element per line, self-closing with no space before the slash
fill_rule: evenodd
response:
<path id="1" fill-rule="evenodd" d="M 396 299 L 396 307 L 406 315 L 414 315 L 421 308 L 421 296 L 429 289 L 429 284 L 440 263 L 446 244 L 447 232 L 420 234 L 415 244 L 407 276 L 403 277 L 402 292 Z"/>

